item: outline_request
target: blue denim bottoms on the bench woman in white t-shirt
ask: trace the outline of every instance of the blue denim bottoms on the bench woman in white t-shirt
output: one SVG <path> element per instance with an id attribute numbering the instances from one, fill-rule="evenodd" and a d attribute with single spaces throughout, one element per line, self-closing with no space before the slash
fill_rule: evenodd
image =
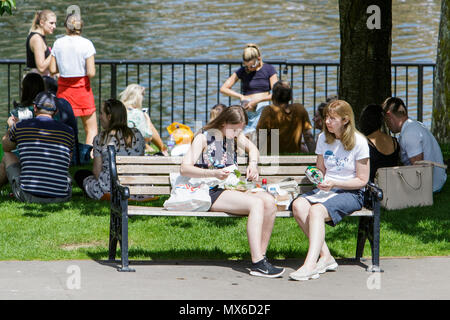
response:
<path id="1" fill-rule="evenodd" d="M 314 189 L 310 192 L 304 193 L 302 195 L 299 195 L 295 200 L 297 200 L 300 197 L 307 197 L 310 195 L 313 195 L 317 192 L 319 192 L 320 189 Z M 327 209 L 328 215 L 330 216 L 332 221 L 327 221 L 326 223 L 330 226 L 334 227 L 336 226 L 342 218 L 345 216 L 348 216 L 349 214 L 353 213 L 354 211 L 361 210 L 361 208 L 364 205 L 364 191 L 363 190 L 342 190 L 337 189 L 335 190 L 337 193 L 336 196 L 328 199 L 325 202 L 321 202 L 321 204 Z M 308 200 L 308 199 L 307 199 Z M 289 210 L 292 210 L 292 201 Z M 311 204 L 310 200 L 308 200 Z M 319 202 L 317 202 L 319 203 Z"/>

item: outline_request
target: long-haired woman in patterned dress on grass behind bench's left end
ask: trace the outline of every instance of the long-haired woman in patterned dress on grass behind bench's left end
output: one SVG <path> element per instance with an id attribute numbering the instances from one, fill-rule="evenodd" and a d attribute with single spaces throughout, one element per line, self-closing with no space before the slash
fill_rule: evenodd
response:
<path id="1" fill-rule="evenodd" d="M 75 181 L 93 199 L 106 199 L 110 193 L 108 145 L 114 145 L 117 155 L 142 156 L 145 140 L 139 130 L 128 128 L 127 110 L 122 102 L 106 100 L 100 110 L 102 132 L 94 138 L 93 171 L 79 170 Z"/>

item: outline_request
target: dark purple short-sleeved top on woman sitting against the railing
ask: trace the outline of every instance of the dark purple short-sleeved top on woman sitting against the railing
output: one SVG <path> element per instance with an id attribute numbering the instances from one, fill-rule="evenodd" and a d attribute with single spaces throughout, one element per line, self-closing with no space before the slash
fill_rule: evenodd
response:
<path id="1" fill-rule="evenodd" d="M 275 68 L 264 63 L 258 71 L 247 73 L 245 67 L 236 70 L 236 75 L 242 81 L 244 95 L 270 91 L 270 77 L 276 74 Z"/>

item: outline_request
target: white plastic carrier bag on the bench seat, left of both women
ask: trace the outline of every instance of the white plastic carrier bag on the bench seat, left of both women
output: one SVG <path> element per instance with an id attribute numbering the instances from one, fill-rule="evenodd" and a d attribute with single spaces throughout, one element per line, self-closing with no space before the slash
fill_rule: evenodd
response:
<path id="1" fill-rule="evenodd" d="M 164 208 L 170 211 L 208 211 L 211 207 L 209 187 L 206 184 L 193 186 L 188 177 L 179 173 L 170 174 L 172 191 L 164 202 Z"/>

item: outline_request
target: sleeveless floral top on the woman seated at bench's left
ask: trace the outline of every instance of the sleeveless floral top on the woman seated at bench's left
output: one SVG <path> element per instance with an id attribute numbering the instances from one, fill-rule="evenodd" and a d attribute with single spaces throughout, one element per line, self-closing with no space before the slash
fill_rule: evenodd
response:
<path id="1" fill-rule="evenodd" d="M 202 131 L 206 136 L 206 150 L 202 152 L 200 159 L 195 164 L 203 169 L 218 169 L 237 165 L 236 140 L 223 139 L 217 141 L 210 131 Z"/>

